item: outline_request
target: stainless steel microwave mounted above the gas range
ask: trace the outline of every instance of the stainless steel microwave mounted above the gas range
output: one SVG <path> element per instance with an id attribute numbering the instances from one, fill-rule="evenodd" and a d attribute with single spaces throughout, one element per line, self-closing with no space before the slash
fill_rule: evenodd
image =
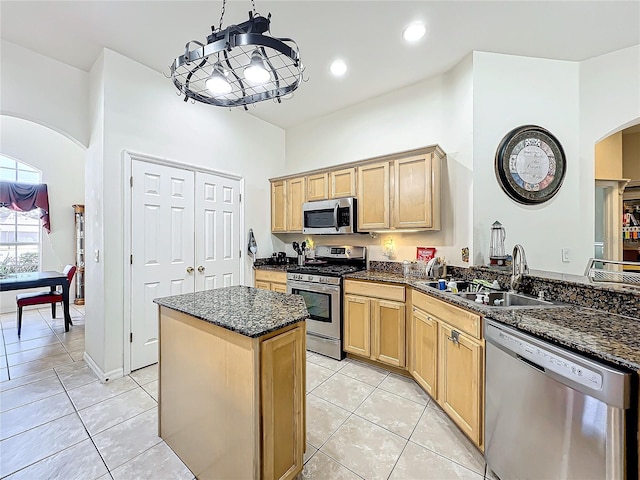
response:
<path id="1" fill-rule="evenodd" d="M 356 199 L 353 197 L 303 203 L 302 233 L 356 233 L 356 210 Z"/>

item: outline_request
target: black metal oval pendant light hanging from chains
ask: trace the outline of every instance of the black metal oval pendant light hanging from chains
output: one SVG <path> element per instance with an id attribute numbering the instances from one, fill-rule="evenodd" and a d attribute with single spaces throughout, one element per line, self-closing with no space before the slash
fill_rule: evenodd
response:
<path id="1" fill-rule="evenodd" d="M 281 102 L 303 78 L 298 45 L 290 38 L 271 36 L 271 14 L 256 14 L 253 0 L 249 20 L 223 29 L 226 3 L 223 0 L 220 25 L 211 27 L 207 43 L 187 42 L 184 54 L 171 64 L 173 84 L 185 102 L 245 110 L 264 100 Z"/>

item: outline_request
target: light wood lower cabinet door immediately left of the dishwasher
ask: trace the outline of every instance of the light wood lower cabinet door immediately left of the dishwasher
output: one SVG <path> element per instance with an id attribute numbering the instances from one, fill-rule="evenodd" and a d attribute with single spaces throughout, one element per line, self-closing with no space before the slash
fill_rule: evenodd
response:
<path id="1" fill-rule="evenodd" d="M 484 348 L 468 335 L 440 322 L 439 351 L 440 406 L 480 446 Z"/>

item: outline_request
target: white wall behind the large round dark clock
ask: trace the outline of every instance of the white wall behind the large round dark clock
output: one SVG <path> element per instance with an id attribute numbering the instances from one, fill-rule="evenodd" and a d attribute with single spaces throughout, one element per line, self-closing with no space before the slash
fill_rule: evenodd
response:
<path id="1" fill-rule="evenodd" d="M 579 65 L 539 58 L 475 52 L 473 60 L 473 242 L 475 264 L 486 264 L 491 224 L 498 220 L 507 232 L 505 248 L 520 243 L 529 266 L 537 270 L 582 273 L 587 262 L 588 232 L 579 210 L 593 210 L 580 184 L 583 170 L 591 172 L 579 155 Z M 539 205 L 522 205 L 499 186 L 496 149 L 502 138 L 521 125 L 539 125 L 560 141 L 567 173 L 559 192 Z M 570 249 L 570 263 L 562 263 L 562 248 Z"/>

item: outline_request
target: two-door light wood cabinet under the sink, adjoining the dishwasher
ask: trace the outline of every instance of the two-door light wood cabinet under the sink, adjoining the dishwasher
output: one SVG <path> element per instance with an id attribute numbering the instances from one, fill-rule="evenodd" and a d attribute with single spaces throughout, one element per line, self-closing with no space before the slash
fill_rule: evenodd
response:
<path id="1" fill-rule="evenodd" d="M 409 371 L 482 449 L 484 340 L 481 318 L 415 290 L 411 300 Z"/>

